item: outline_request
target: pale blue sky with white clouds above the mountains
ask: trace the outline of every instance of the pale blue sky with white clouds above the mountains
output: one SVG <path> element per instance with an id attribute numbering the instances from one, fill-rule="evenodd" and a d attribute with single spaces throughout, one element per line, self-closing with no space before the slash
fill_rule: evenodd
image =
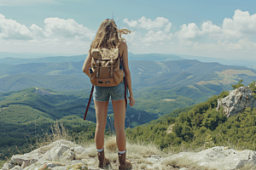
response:
<path id="1" fill-rule="evenodd" d="M 0 52 L 87 54 L 115 20 L 133 54 L 256 60 L 253 0 L 0 0 Z"/>

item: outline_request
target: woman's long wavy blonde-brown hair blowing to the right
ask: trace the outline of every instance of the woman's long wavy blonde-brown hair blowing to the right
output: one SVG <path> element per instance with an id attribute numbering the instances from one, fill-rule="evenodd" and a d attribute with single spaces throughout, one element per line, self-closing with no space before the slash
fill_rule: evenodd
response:
<path id="1" fill-rule="evenodd" d="M 129 34 L 131 31 L 127 29 L 119 30 L 114 20 L 103 20 L 96 37 L 90 44 L 90 48 L 115 48 L 120 42 L 125 42 L 123 34 Z"/>

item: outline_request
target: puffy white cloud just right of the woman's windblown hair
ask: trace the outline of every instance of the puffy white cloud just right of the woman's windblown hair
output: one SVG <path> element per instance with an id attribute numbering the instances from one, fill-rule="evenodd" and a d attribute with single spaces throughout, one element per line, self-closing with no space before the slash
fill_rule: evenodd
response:
<path id="1" fill-rule="evenodd" d="M 125 24 L 131 27 L 143 28 L 146 30 L 160 30 L 164 29 L 164 31 L 170 31 L 172 27 L 172 23 L 164 18 L 164 17 L 157 17 L 154 20 L 147 19 L 145 16 L 138 20 L 131 20 L 129 21 L 127 18 L 123 20 Z"/>

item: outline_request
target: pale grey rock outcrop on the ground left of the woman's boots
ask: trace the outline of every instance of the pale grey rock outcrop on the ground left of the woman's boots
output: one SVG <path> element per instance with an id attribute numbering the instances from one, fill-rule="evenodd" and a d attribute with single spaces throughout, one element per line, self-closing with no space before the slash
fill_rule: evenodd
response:
<path id="1" fill-rule="evenodd" d="M 95 152 L 95 148 L 84 148 L 61 139 L 30 153 L 12 156 L 11 160 L 3 165 L 2 170 L 88 170 L 87 160 L 84 161 L 82 157 L 87 158 L 91 151 Z"/>

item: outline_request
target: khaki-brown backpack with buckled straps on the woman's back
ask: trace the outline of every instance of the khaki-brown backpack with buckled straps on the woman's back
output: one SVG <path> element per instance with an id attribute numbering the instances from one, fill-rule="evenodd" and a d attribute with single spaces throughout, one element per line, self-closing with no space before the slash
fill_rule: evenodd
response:
<path id="1" fill-rule="evenodd" d="M 119 69 L 119 48 L 92 48 L 90 82 L 94 86 L 117 86 L 124 79 L 124 71 Z"/>

